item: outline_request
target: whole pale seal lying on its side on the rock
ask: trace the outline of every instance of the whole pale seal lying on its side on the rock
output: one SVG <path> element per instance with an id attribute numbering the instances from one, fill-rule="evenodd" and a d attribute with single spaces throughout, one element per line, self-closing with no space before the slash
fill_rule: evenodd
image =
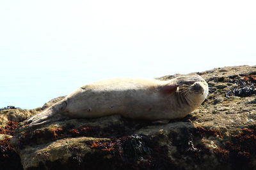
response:
<path id="1" fill-rule="evenodd" d="M 28 124 L 45 124 L 55 115 L 97 118 L 119 114 L 155 121 L 183 118 L 202 104 L 208 92 L 207 82 L 197 74 L 166 81 L 141 78 L 95 81 L 29 118 Z"/>

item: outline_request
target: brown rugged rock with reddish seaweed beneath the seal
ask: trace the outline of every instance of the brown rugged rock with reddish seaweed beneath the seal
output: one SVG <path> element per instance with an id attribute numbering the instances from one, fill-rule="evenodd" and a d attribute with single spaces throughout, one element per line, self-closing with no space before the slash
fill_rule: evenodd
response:
<path id="1" fill-rule="evenodd" d="M 211 94 L 168 124 L 119 115 L 37 127 L 22 122 L 63 96 L 43 108 L 0 110 L 0 163 L 3 169 L 256 169 L 256 66 L 196 74 Z"/>

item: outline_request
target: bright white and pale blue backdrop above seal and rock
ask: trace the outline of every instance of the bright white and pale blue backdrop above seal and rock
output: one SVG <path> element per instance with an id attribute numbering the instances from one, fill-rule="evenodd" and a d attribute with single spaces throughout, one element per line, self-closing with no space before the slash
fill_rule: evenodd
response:
<path id="1" fill-rule="evenodd" d="M 256 1 L 0 1 L 0 108 L 84 83 L 256 64 Z"/>

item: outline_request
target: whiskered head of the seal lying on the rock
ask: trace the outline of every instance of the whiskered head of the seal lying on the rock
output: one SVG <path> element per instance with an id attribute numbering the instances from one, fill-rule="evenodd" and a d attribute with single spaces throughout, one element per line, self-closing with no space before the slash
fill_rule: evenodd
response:
<path id="1" fill-rule="evenodd" d="M 184 76 L 177 78 L 177 93 L 179 97 L 184 98 L 190 106 L 198 106 L 206 99 L 209 89 L 208 84 L 199 75 Z"/>

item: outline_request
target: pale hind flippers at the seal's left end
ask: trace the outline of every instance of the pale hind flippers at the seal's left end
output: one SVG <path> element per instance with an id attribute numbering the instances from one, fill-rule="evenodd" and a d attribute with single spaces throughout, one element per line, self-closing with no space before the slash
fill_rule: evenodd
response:
<path id="1" fill-rule="evenodd" d="M 29 126 L 46 124 L 51 122 L 50 118 L 54 117 L 54 115 L 63 112 L 66 108 L 67 102 L 66 101 L 59 101 L 58 103 L 52 105 L 50 108 L 47 108 L 45 111 L 38 113 L 37 115 L 28 119 Z"/>

